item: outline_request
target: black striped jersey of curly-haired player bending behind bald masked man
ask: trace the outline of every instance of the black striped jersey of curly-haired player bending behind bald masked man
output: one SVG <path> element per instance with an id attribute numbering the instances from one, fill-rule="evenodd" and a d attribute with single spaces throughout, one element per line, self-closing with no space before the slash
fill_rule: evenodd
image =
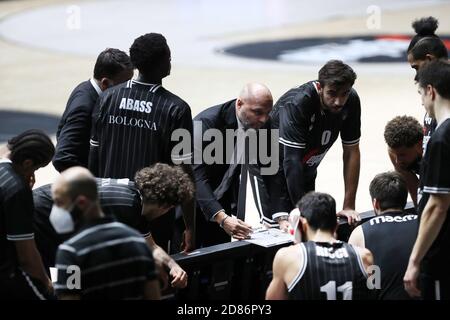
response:
<path id="1" fill-rule="evenodd" d="M 134 182 L 128 179 L 97 178 L 100 205 L 106 215 L 112 215 L 117 221 L 138 230 L 144 237 L 150 235 L 150 222 L 142 216 L 142 200 Z M 35 202 L 34 228 L 36 244 L 42 253 L 44 265 L 53 266 L 58 245 L 70 235 L 56 233 L 49 221 L 53 206 L 51 185 L 33 190 Z"/>

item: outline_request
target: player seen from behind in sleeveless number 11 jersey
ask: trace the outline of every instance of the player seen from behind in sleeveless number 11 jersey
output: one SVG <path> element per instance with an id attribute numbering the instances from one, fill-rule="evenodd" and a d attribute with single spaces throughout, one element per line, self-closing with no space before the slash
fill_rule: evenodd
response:
<path id="1" fill-rule="evenodd" d="M 298 228 L 307 242 L 277 252 L 266 299 L 369 298 L 367 269 L 372 265 L 372 254 L 334 238 L 334 199 L 328 194 L 310 192 L 300 200 L 298 209 Z"/>

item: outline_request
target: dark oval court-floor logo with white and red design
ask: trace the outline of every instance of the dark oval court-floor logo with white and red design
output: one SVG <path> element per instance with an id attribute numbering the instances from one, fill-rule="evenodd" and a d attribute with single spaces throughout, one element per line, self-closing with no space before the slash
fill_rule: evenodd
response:
<path id="1" fill-rule="evenodd" d="M 440 38 L 450 49 L 450 36 Z M 340 59 L 346 63 L 405 62 L 410 40 L 411 36 L 401 34 L 297 38 L 244 43 L 224 48 L 223 52 L 246 58 L 299 64 L 322 64 L 331 59 Z"/>

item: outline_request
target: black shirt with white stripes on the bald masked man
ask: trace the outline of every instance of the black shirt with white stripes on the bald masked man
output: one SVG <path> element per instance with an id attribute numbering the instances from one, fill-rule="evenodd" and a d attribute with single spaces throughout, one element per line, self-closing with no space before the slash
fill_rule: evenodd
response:
<path id="1" fill-rule="evenodd" d="M 145 284 L 156 278 L 145 239 L 110 217 L 92 222 L 61 244 L 56 268 L 57 295 L 81 299 L 142 299 Z"/>

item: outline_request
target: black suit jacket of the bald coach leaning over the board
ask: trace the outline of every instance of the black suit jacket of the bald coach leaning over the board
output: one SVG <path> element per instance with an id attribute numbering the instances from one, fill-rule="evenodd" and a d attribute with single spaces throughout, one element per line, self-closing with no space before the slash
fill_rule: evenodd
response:
<path id="1" fill-rule="evenodd" d="M 238 129 L 238 122 L 236 118 L 236 108 L 235 108 L 236 100 L 231 100 L 225 102 L 221 105 L 216 105 L 210 107 L 201 113 L 199 113 L 194 118 L 194 147 L 198 148 L 198 146 L 202 146 L 202 152 L 205 150 L 205 147 L 208 146 L 210 141 L 202 141 L 203 134 L 208 129 L 217 129 L 222 133 L 222 137 L 224 137 L 223 143 L 223 164 L 197 164 L 195 163 L 193 166 L 194 176 L 197 188 L 197 202 L 205 215 L 207 220 L 211 220 L 215 213 L 224 209 L 228 214 L 236 214 L 237 210 L 237 194 L 239 192 L 239 172 L 240 169 L 237 170 L 237 174 L 233 175 L 233 183 L 230 183 L 229 189 L 227 192 L 223 193 L 220 198 L 217 198 L 214 194 L 214 191 L 217 190 L 226 174 L 228 168 L 230 167 L 229 161 L 226 161 L 226 130 Z M 199 123 L 201 122 L 201 135 L 199 128 Z M 271 129 L 271 121 L 269 120 L 266 125 L 262 129 Z M 268 141 L 267 144 L 270 150 L 270 130 L 268 130 Z M 258 145 L 259 139 L 261 139 L 261 135 L 258 131 Z M 276 144 L 278 148 L 278 142 Z M 199 151 L 195 150 L 198 154 Z M 253 186 L 254 198 L 257 199 L 259 197 L 261 204 L 261 213 L 263 216 L 263 220 L 269 224 L 274 224 L 273 219 L 278 215 L 287 214 L 291 209 L 291 203 L 287 195 L 280 194 L 280 188 L 278 187 L 279 179 L 283 177 L 280 176 L 282 174 L 282 170 L 279 170 L 276 175 L 261 175 L 260 169 L 263 167 L 261 162 L 258 159 L 257 165 L 251 165 L 249 168 L 251 183 Z M 255 184 L 258 185 L 255 188 Z M 255 190 L 258 191 L 258 194 L 255 194 Z"/>

